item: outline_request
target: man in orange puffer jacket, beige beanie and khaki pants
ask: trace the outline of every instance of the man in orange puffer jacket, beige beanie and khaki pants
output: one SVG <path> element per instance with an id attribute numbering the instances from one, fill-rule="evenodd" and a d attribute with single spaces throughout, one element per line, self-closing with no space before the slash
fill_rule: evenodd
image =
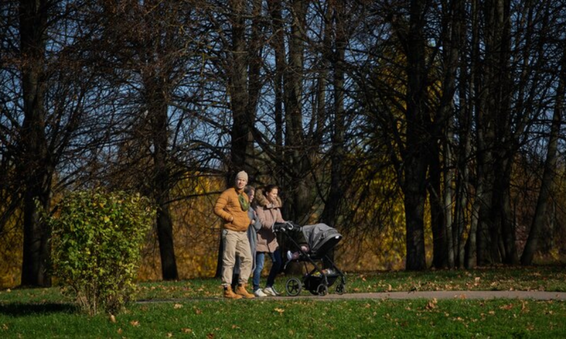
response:
<path id="1" fill-rule="evenodd" d="M 215 214 L 224 221 L 222 227 L 222 241 L 224 241 L 222 286 L 224 287 L 224 297 L 230 299 L 255 297 L 254 294 L 248 293 L 246 290 L 253 262 L 250 241 L 247 238 L 247 229 L 250 227 L 250 217 L 247 213 L 250 208 L 250 200 L 244 192 L 247 182 L 247 173 L 238 172 L 234 187 L 222 192 L 214 207 Z M 234 293 L 230 285 L 236 255 L 241 261 L 238 286 Z"/>

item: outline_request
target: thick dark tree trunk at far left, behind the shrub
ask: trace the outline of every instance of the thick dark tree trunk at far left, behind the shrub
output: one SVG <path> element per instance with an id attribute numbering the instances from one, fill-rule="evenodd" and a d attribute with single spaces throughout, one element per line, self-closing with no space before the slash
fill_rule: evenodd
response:
<path id="1" fill-rule="evenodd" d="M 45 32 L 47 1 L 22 0 L 19 7 L 22 53 L 24 121 L 20 132 L 22 159 L 19 172 L 24 185 L 24 244 L 22 285 L 50 286 L 47 266 L 50 232 L 41 221 L 36 201 L 49 208 L 53 173 L 45 138 Z"/>

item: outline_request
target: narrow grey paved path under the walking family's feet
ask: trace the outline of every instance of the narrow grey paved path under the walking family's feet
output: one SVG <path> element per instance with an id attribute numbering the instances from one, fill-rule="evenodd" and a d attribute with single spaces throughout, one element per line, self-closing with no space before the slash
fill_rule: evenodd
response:
<path id="1" fill-rule="evenodd" d="M 533 300 L 557 300 L 566 301 L 566 292 L 543 292 L 543 291 L 416 291 L 416 292 L 379 292 L 379 293 L 346 293 L 346 294 L 327 294 L 320 295 L 299 295 L 289 297 L 265 297 L 255 298 L 254 300 L 290 300 L 290 299 L 310 299 L 314 301 L 336 301 L 353 299 L 533 299 Z M 226 300 L 221 297 L 216 298 L 189 298 L 189 299 L 148 299 L 138 302 L 182 302 L 182 301 L 204 301 L 204 300 Z"/>

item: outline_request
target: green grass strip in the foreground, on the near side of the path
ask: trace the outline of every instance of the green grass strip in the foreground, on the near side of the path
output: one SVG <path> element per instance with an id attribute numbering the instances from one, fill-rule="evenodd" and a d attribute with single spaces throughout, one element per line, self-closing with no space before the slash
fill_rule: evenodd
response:
<path id="1" fill-rule="evenodd" d="M 4 338 L 560 338 L 563 302 L 185 301 L 88 317 L 65 305 L 0 306 Z"/>

